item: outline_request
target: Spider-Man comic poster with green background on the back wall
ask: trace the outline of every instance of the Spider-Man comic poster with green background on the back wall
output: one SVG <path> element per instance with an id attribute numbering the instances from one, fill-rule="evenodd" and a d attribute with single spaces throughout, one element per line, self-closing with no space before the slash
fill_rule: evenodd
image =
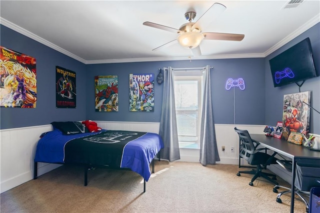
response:
<path id="1" fill-rule="evenodd" d="M 118 111 L 118 76 L 94 76 L 95 111 Z"/>

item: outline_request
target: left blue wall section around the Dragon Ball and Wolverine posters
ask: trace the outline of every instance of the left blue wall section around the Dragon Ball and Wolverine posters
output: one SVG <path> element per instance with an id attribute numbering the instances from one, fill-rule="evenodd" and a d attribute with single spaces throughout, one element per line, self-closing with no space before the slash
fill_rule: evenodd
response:
<path id="1" fill-rule="evenodd" d="M 0 129 L 86 118 L 85 64 L 3 25 L 0 25 L 0 45 L 35 57 L 37 80 L 36 107 L 0 107 Z M 56 65 L 76 72 L 76 108 L 55 108 Z"/>

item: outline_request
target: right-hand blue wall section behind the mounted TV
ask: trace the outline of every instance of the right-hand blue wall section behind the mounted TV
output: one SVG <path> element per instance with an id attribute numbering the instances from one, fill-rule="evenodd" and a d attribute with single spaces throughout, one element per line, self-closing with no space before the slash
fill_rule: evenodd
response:
<path id="1" fill-rule="evenodd" d="M 273 87 L 269 59 L 283 52 L 287 48 L 309 37 L 315 69 L 320 74 L 320 23 L 295 37 L 281 48 L 265 57 L 265 124 L 275 125 L 282 120 L 283 95 L 299 92 L 299 87 L 291 83 L 281 87 Z M 299 82 L 301 83 L 301 82 Z M 320 111 L 320 77 L 305 80 L 300 91 L 311 91 L 311 106 Z M 320 134 L 320 114 L 310 109 L 310 132 Z"/>

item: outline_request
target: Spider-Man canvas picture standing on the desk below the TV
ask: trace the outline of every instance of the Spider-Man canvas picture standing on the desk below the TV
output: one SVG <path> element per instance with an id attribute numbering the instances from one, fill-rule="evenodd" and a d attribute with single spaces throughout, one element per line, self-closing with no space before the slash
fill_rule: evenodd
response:
<path id="1" fill-rule="evenodd" d="M 290 132 L 306 133 L 310 122 L 310 91 L 285 94 L 283 97 L 282 138 L 288 139 Z"/>

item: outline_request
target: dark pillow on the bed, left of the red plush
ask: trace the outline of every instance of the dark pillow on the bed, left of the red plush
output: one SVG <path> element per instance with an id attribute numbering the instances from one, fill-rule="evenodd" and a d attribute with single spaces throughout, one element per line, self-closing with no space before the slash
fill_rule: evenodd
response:
<path id="1" fill-rule="evenodd" d="M 51 122 L 53 128 L 59 129 L 64 135 L 88 132 L 87 128 L 78 121 Z"/>

